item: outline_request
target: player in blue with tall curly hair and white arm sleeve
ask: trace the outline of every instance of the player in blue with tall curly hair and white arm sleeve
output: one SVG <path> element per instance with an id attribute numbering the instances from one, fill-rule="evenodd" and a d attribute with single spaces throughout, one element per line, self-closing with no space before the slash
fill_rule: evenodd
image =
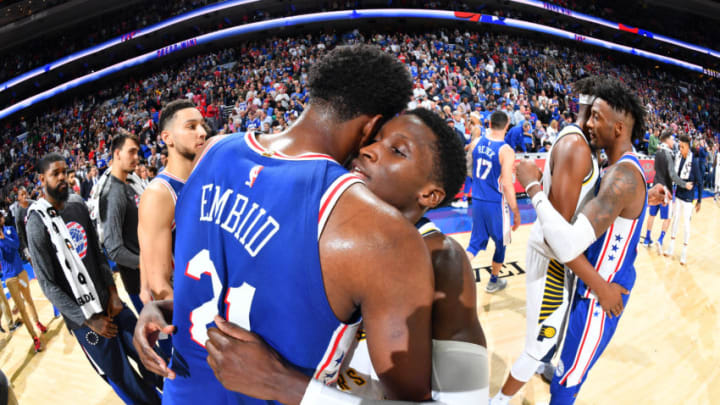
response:
<path id="1" fill-rule="evenodd" d="M 645 110 L 638 97 L 616 79 L 595 85 L 596 99 L 587 122 L 590 143 L 604 149 L 609 167 L 601 175 L 597 195 L 570 224 L 540 190 L 542 176 L 534 162 L 518 164 L 517 176 L 542 224 L 543 236 L 564 262 L 585 252 L 597 273 L 619 285 L 623 305 L 635 283 L 635 257 L 647 207 L 647 186 L 640 162 L 632 152 L 633 139 L 641 139 Z M 572 404 L 587 373 L 615 333 L 620 311 L 608 315 L 598 296 L 582 280 L 570 304 L 568 327 L 560 362 L 550 386 L 551 404 Z"/>

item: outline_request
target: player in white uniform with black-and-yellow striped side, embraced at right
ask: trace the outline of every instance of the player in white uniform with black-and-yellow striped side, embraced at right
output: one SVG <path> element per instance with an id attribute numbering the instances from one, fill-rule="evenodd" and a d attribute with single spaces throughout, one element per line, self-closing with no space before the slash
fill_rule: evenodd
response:
<path id="1" fill-rule="evenodd" d="M 545 163 L 543 189 L 553 207 L 568 221 L 592 198 L 599 176 L 597 159 L 591 153 L 584 135 L 594 99 L 593 87 L 598 79 L 593 76 L 575 83 L 574 90 L 579 94 L 577 119 L 574 125 L 568 125 L 560 131 Z M 621 303 L 620 294 L 613 296 L 613 291 L 606 292 L 603 287 L 609 287 L 609 284 L 598 280 L 597 276 L 593 278 L 590 264 L 587 260 L 585 263 L 581 261 L 568 263 L 568 266 L 573 271 L 584 270 L 585 273 L 579 273 L 581 277 L 595 279 L 602 303 L 607 302 L 608 306 L 617 305 L 618 301 Z M 513 364 L 501 391 L 492 399 L 492 405 L 507 404 L 536 370 L 542 371 L 547 367 L 552 371 L 549 362 L 562 340 L 574 275 L 565 270 L 563 263 L 545 244 L 542 226 L 538 221 L 530 231 L 526 268 L 525 349 Z M 614 304 L 610 304 L 613 300 Z M 550 378 L 545 375 L 548 380 L 552 378 L 552 373 L 549 373 Z"/>

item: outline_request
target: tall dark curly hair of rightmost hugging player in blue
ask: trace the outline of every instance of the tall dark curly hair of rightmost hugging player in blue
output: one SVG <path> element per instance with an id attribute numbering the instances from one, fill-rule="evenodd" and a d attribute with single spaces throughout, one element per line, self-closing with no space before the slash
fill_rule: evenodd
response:
<path id="1" fill-rule="evenodd" d="M 635 120 L 631 140 L 641 141 L 645 135 L 645 107 L 628 86 L 617 79 L 606 77 L 595 84 L 595 96 L 603 99 L 613 110 L 630 114 Z"/>

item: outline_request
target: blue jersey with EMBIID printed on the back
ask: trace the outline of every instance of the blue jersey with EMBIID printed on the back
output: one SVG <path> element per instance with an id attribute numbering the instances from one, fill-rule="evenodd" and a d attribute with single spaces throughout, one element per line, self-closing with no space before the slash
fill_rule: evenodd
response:
<path id="1" fill-rule="evenodd" d="M 262 336 L 326 384 L 359 324 L 326 298 L 318 240 L 342 193 L 360 180 L 329 156 L 267 151 L 253 134 L 208 145 L 177 201 L 172 367 L 165 404 L 264 404 L 226 390 L 207 364 L 213 316 Z"/>

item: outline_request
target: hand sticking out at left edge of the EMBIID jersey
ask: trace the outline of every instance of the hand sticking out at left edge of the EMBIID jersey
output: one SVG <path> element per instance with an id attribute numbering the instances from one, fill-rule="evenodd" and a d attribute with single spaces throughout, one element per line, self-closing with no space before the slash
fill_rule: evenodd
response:
<path id="1" fill-rule="evenodd" d="M 175 372 L 157 354 L 155 344 L 160 332 L 170 335 L 175 331 L 175 327 L 170 325 L 172 312 L 172 300 L 148 302 L 138 316 L 133 336 L 133 346 L 145 368 L 171 380 L 175 378 Z"/>

